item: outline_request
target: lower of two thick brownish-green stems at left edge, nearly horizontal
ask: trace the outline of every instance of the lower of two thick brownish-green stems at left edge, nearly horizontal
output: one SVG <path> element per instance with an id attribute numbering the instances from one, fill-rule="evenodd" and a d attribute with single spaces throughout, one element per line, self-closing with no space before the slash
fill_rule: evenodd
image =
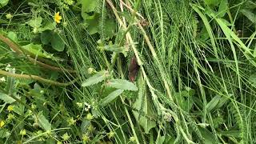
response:
<path id="1" fill-rule="evenodd" d="M 49 79 L 38 77 L 37 75 L 13 74 L 13 73 L 6 72 L 4 70 L 0 70 L 0 74 L 6 75 L 6 76 L 12 77 L 12 78 L 34 79 L 39 82 L 50 83 L 51 85 L 56 85 L 56 86 L 69 86 L 69 85 L 73 84 L 74 82 L 76 82 L 76 80 L 73 80 L 71 82 L 66 82 L 66 83 L 54 82 Z"/>

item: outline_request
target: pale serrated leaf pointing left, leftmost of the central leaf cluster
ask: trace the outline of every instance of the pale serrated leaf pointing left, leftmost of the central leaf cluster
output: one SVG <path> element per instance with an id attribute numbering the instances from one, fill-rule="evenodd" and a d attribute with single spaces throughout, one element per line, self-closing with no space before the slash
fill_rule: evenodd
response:
<path id="1" fill-rule="evenodd" d="M 97 84 L 98 82 L 104 81 L 109 76 L 108 71 L 102 70 L 94 76 L 87 78 L 85 82 L 82 82 L 82 86 L 91 86 Z"/>

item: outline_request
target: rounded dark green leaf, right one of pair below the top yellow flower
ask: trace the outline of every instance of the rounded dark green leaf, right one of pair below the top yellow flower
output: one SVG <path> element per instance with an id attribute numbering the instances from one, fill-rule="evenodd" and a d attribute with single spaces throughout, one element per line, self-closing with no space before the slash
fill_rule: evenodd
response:
<path id="1" fill-rule="evenodd" d="M 59 34 L 54 33 L 50 40 L 51 46 L 53 46 L 54 50 L 63 51 L 65 48 L 65 43 Z"/>

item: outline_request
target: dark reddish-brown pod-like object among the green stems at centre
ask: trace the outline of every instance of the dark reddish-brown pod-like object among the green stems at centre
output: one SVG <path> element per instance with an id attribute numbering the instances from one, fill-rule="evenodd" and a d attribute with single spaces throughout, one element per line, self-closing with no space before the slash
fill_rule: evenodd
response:
<path id="1" fill-rule="evenodd" d="M 137 62 L 137 58 L 134 56 L 131 61 L 130 61 L 130 66 L 129 66 L 129 79 L 131 82 L 135 81 L 135 78 L 137 76 L 138 73 L 138 62 Z"/>

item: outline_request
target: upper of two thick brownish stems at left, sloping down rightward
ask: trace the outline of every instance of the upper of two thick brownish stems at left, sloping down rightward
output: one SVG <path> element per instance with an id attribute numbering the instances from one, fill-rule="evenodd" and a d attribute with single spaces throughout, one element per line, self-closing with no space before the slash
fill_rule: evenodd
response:
<path id="1" fill-rule="evenodd" d="M 20 49 L 20 47 L 16 43 L 12 42 L 9 38 L 6 38 L 2 34 L 0 34 L 0 40 L 2 42 L 5 42 L 6 45 L 10 46 L 10 49 L 13 50 L 15 53 L 17 53 L 18 55 L 26 55 L 22 52 L 22 50 Z M 62 69 L 62 68 L 55 67 L 55 66 L 50 66 L 50 65 L 47 65 L 43 62 L 39 62 L 36 59 L 31 58 L 28 55 L 26 55 L 26 57 L 29 59 L 30 62 L 36 63 L 39 66 L 42 66 L 46 69 L 50 69 L 50 70 L 54 70 L 54 71 L 66 71 L 66 72 L 69 72 L 69 73 L 76 73 L 75 70 L 68 70 L 68 69 Z"/>

